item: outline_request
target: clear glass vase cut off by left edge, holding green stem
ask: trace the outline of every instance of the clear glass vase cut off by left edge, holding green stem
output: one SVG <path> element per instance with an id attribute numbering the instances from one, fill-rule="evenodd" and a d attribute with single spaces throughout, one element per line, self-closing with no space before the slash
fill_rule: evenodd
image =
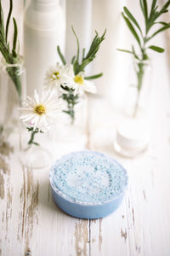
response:
<path id="1" fill-rule="evenodd" d="M 26 69 L 23 58 L 18 63 L 0 64 L 0 143 L 8 138 L 19 123 L 20 103 L 26 97 Z"/>

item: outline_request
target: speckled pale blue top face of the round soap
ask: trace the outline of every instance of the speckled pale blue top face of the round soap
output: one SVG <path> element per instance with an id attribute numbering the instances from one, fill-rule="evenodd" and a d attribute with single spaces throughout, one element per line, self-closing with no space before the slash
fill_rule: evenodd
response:
<path id="1" fill-rule="evenodd" d="M 69 201 L 102 204 L 122 195 L 127 172 L 116 160 L 95 151 L 67 154 L 51 168 L 53 189 Z"/>

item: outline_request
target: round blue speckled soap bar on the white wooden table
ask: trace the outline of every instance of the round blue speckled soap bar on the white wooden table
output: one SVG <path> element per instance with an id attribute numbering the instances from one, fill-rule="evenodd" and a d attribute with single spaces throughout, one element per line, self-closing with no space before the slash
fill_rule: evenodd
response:
<path id="1" fill-rule="evenodd" d="M 127 187 L 127 172 L 116 160 L 79 151 L 57 160 L 50 171 L 56 204 L 77 218 L 102 218 L 114 212 Z"/>

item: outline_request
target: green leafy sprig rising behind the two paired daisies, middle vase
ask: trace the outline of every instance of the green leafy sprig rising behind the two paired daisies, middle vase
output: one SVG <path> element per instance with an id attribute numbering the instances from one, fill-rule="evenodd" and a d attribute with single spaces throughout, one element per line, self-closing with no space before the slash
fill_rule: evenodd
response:
<path id="1" fill-rule="evenodd" d="M 95 32 L 95 37 L 92 41 L 92 44 L 90 45 L 90 48 L 88 49 L 88 53 L 85 54 L 85 49 L 82 49 L 82 60 L 80 61 L 80 44 L 79 40 L 77 37 L 77 33 L 75 32 L 73 26 L 71 26 L 72 32 L 75 35 L 75 38 L 77 40 L 77 54 L 74 55 L 71 59 L 71 64 L 73 65 L 73 70 L 75 76 L 79 73 L 84 73 L 85 68 L 88 66 L 88 64 L 92 61 L 94 61 L 94 58 L 96 56 L 96 53 L 99 50 L 100 44 L 105 40 L 105 32 L 102 34 L 101 37 L 99 37 L 98 32 Z M 62 61 L 63 65 L 66 64 L 65 57 L 61 53 L 61 50 L 59 48 L 59 45 L 57 46 L 57 51 L 59 54 L 59 58 Z M 92 76 L 84 77 L 84 79 L 90 80 L 90 79 L 99 79 L 103 73 L 98 73 Z M 74 90 L 69 89 L 68 87 L 65 87 L 64 84 L 61 86 L 64 90 L 65 93 L 62 95 L 62 98 L 65 102 L 67 102 L 67 110 L 64 110 L 63 112 L 68 113 L 71 116 L 71 121 L 72 123 L 74 122 L 75 119 L 75 112 L 74 112 L 74 107 L 78 103 L 78 94 L 75 95 Z"/>

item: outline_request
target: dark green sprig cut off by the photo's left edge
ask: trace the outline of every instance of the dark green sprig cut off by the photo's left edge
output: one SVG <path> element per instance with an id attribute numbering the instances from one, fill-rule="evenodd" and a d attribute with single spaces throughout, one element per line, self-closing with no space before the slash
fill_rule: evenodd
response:
<path id="1" fill-rule="evenodd" d="M 16 20 L 13 18 L 14 24 L 14 37 L 13 37 L 13 48 L 10 49 L 8 42 L 8 26 L 10 23 L 11 15 L 13 10 L 13 0 L 9 0 L 9 10 L 6 26 L 4 26 L 3 18 L 3 7 L 2 1 L 0 0 L 0 51 L 3 55 L 4 60 L 8 64 L 17 64 L 19 61 L 19 54 L 16 52 L 18 29 Z M 21 96 L 21 82 L 19 76 L 20 67 L 7 67 L 7 73 L 14 82 L 14 86 Z"/>

